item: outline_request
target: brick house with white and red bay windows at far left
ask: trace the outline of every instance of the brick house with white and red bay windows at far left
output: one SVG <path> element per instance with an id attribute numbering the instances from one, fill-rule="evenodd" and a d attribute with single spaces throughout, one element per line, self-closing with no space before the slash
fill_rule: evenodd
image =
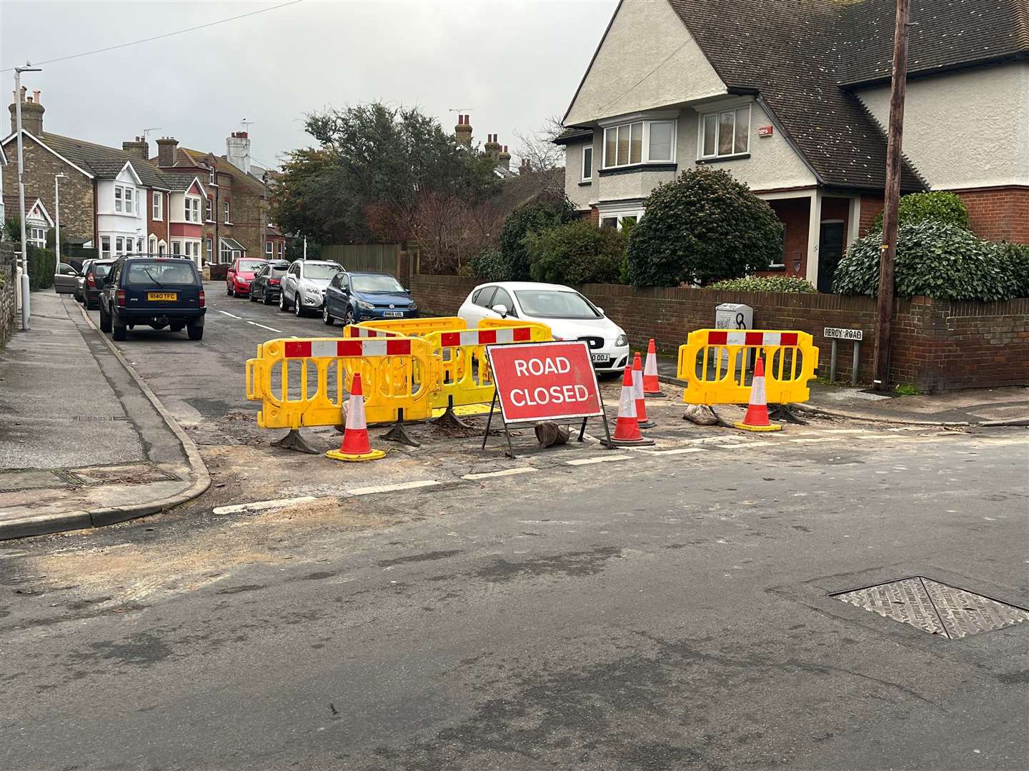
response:
<path id="1" fill-rule="evenodd" d="M 206 192 L 196 175 L 162 173 L 147 160 L 147 143 L 139 137 L 119 150 L 45 132 L 39 91 L 28 97 L 23 88 L 21 98 L 31 243 L 45 243 L 45 231 L 55 224 L 55 177 L 64 174 L 62 241 L 96 247 L 102 257 L 181 254 L 200 264 L 200 201 Z M 10 113 L 11 134 L 0 141 L 8 155 L 16 152 L 14 105 Z M 4 204 L 8 213 L 17 211 L 16 190 L 4 192 Z"/>

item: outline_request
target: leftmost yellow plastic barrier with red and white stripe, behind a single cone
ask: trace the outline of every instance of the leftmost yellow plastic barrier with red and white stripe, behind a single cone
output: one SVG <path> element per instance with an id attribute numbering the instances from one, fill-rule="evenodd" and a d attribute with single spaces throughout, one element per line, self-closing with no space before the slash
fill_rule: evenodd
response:
<path id="1" fill-rule="evenodd" d="M 246 364 L 247 399 L 262 402 L 263 429 L 339 426 L 354 372 L 361 373 L 368 423 L 432 414 L 439 391 L 439 357 L 418 338 L 269 340 Z M 276 386 L 278 384 L 278 388 Z"/>

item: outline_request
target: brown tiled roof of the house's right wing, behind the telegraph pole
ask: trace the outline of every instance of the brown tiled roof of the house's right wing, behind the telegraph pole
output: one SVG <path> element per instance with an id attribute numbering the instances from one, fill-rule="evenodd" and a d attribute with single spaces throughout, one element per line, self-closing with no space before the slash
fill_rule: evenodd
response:
<path id="1" fill-rule="evenodd" d="M 840 82 L 889 79 L 894 0 L 844 4 Z M 1029 56 L 1026 0 L 912 0 L 909 74 Z"/>

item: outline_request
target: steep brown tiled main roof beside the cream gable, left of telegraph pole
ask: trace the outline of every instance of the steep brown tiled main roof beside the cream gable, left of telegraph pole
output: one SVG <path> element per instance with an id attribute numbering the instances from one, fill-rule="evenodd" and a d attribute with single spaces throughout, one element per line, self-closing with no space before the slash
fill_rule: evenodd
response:
<path id="1" fill-rule="evenodd" d="M 861 188 L 885 184 L 882 130 L 839 85 L 846 62 L 842 9 L 847 3 L 668 1 L 730 90 L 756 90 L 824 184 Z M 883 7 L 885 0 L 851 4 Z M 901 186 L 924 187 L 907 162 Z"/>

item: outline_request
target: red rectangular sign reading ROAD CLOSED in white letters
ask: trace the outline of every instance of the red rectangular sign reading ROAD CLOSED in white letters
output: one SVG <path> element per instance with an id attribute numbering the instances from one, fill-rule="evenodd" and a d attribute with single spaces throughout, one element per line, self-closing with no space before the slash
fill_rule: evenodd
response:
<path id="1" fill-rule="evenodd" d="M 486 354 L 504 423 L 604 413 L 586 340 L 490 345 Z"/>

